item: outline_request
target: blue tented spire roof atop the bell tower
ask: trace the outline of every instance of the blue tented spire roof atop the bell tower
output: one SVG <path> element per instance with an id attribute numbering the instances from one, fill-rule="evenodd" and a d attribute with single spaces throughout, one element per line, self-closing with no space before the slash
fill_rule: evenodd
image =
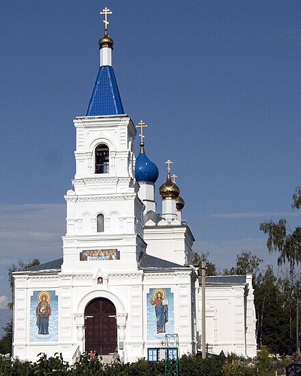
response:
<path id="1" fill-rule="evenodd" d="M 125 113 L 112 66 L 101 66 L 94 83 L 86 116 L 121 115 Z"/>

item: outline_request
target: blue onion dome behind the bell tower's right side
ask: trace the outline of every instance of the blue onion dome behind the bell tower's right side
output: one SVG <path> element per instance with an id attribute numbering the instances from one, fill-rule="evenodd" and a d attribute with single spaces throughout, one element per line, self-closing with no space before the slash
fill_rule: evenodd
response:
<path id="1" fill-rule="evenodd" d="M 136 159 L 135 178 L 138 183 L 154 184 L 159 176 L 158 167 L 146 157 L 144 142 L 140 142 L 140 154 Z"/>

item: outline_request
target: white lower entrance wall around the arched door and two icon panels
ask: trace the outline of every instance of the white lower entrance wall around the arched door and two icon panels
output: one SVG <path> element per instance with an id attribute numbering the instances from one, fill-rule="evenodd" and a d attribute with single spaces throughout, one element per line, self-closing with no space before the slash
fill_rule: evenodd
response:
<path id="1" fill-rule="evenodd" d="M 102 285 L 96 284 L 97 276 L 104 278 Z M 165 273 L 103 273 L 101 269 L 94 273 L 42 272 L 34 276 L 18 275 L 15 284 L 13 355 L 20 359 L 35 361 L 41 351 L 49 356 L 62 352 L 64 360 L 72 362 L 77 347 L 81 352 L 85 351 L 85 308 L 99 297 L 109 299 L 116 307 L 118 351 L 122 361 L 147 358 L 148 347 L 161 347 L 161 341 L 146 339 L 146 294 L 150 288 L 161 288 L 162 285 L 171 288 L 174 306 L 179 307 L 175 328 L 179 334 L 181 353 L 195 351 L 189 270 Z M 34 291 L 41 289 L 54 290 L 59 296 L 59 340 L 55 343 L 31 343 L 29 340 L 30 299 Z"/>

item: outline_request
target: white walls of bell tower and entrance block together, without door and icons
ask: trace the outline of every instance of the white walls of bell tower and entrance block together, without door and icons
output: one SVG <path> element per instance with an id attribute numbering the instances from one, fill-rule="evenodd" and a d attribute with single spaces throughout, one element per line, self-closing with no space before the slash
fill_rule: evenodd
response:
<path id="1" fill-rule="evenodd" d="M 166 269 L 138 268 L 145 254 L 143 209 L 138 184 L 133 179 L 133 139 L 135 129 L 127 116 L 77 118 L 77 150 L 74 191 L 67 192 L 66 236 L 63 237 L 63 263 L 58 270 L 20 272 L 15 278 L 14 356 L 36 360 L 41 351 L 48 355 L 62 352 L 72 361 L 85 346 L 85 309 L 93 299 L 105 298 L 116 308 L 118 351 L 125 362 L 146 357 L 150 347 L 161 347 L 161 340 L 148 340 L 147 296 L 150 288 L 166 288 L 173 295 L 173 332 L 179 335 L 181 353 L 196 351 L 196 326 L 192 286 L 196 273 L 185 263 L 187 226 L 169 226 L 180 241 L 179 265 Z M 107 173 L 94 173 L 96 146 L 109 146 Z M 103 215 L 103 231 L 97 216 Z M 192 240 L 190 239 L 192 242 Z M 151 243 L 151 241 L 150 241 Z M 170 244 L 170 252 L 174 252 Z M 156 246 L 160 246 L 157 244 Z M 179 245 L 178 245 L 179 247 Z M 82 252 L 118 250 L 115 260 L 81 260 Z M 178 258 L 170 253 L 173 263 Z M 151 258 L 150 258 L 151 260 Z M 103 283 L 97 284 L 98 278 Z M 54 291 L 58 297 L 57 341 L 32 341 L 31 332 L 35 291 Z M 193 289 L 193 293 L 195 290 Z M 51 317 L 50 317 L 51 319 Z M 43 335 L 40 335 L 43 336 Z M 46 338 L 46 337 L 45 337 Z"/>

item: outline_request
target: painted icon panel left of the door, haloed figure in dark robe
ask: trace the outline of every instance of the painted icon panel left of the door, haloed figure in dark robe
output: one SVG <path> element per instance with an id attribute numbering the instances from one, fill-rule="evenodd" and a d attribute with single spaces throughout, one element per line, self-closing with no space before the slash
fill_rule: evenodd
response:
<path id="1" fill-rule="evenodd" d="M 34 291 L 30 301 L 30 342 L 57 342 L 58 297 L 55 291 Z"/>

